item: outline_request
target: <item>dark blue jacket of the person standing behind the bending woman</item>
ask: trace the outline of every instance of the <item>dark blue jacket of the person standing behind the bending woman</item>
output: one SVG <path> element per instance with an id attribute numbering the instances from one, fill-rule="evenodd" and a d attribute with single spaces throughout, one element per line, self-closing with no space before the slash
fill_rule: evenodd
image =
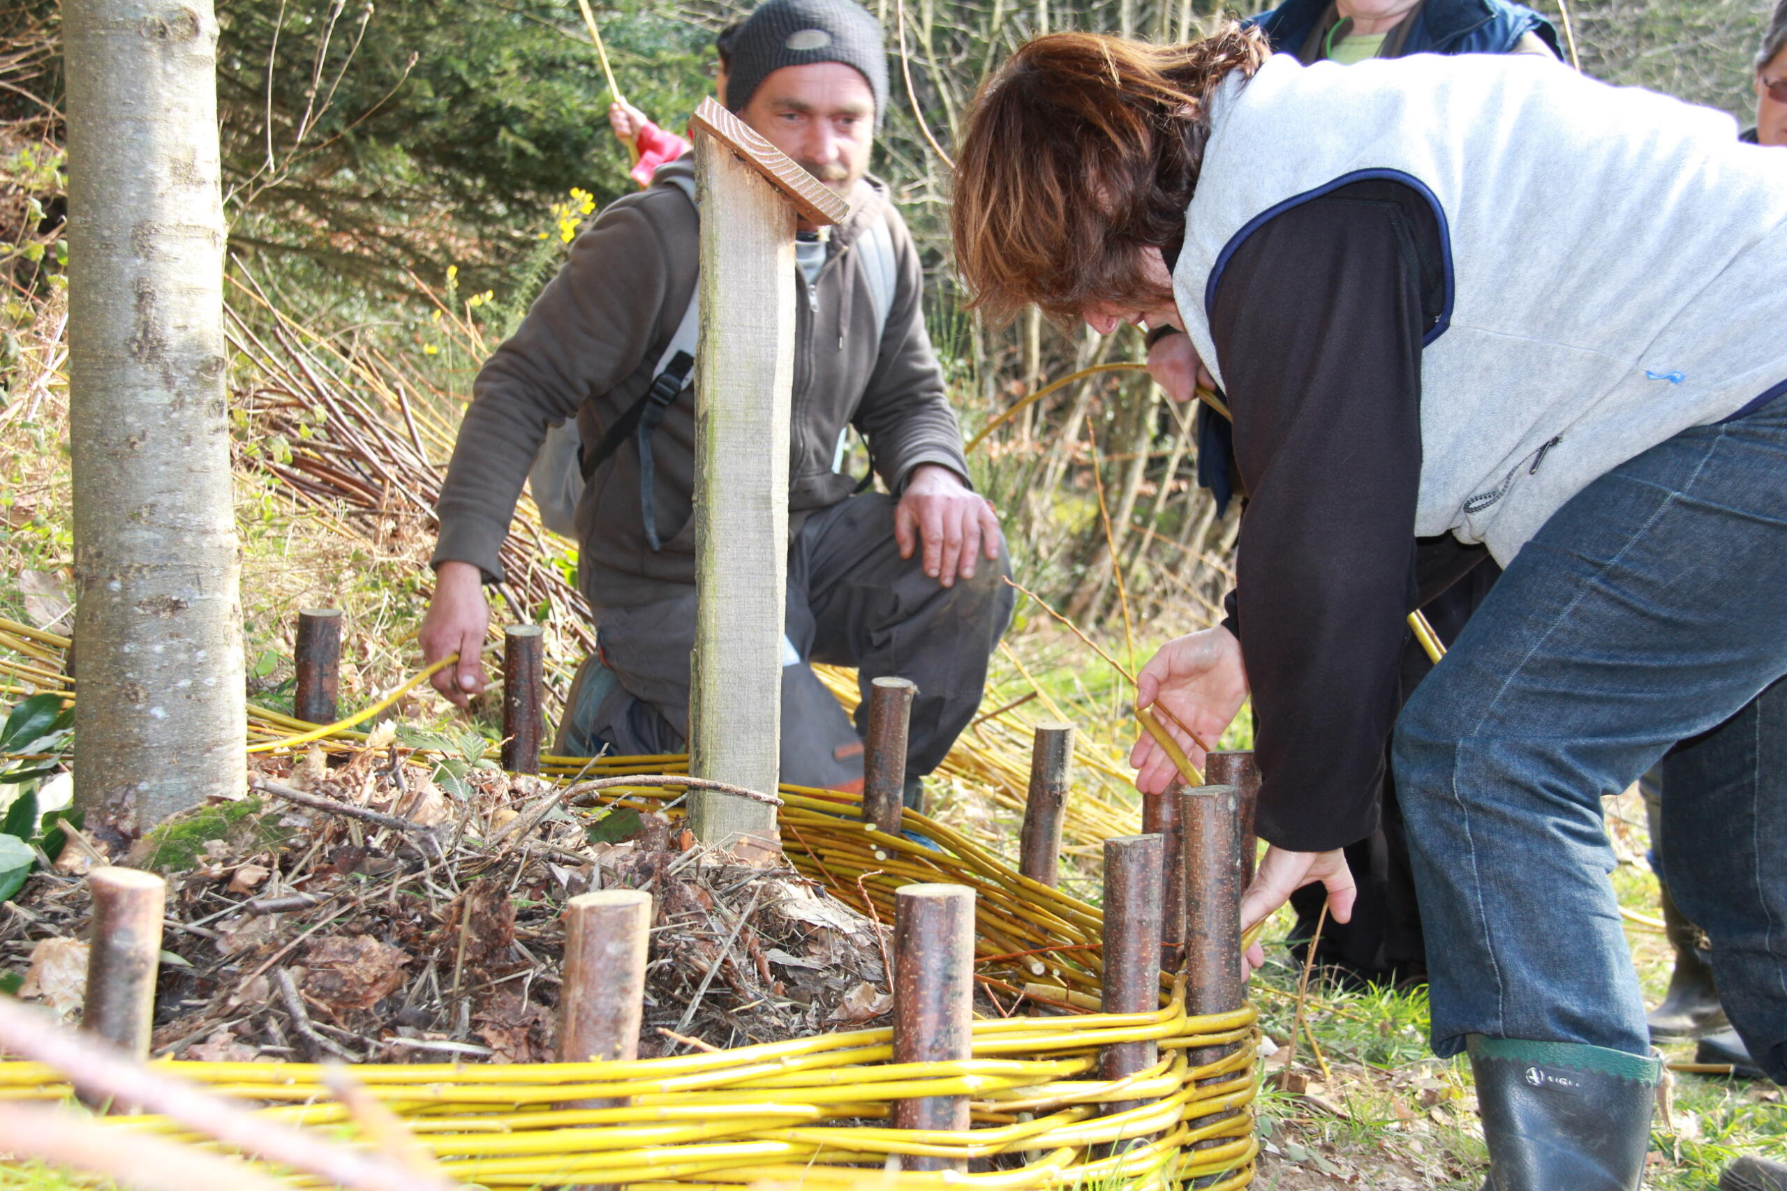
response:
<path id="1" fill-rule="evenodd" d="M 1272 39 L 1272 50 L 1296 54 L 1315 32 L 1331 0 L 1285 0 L 1271 12 L 1262 12 L 1247 23 L 1256 25 Z M 1408 20 L 1414 25 L 1403 36 L 1397 57 L 1410 54 L 1506 54 L 1526 34 L 1558 48 L 1558 34 L 1551 21 L 1526 5 L 1512 0 L 1426 0 Z M 1197 482 L 1217 500 L 1217 512 L 1228 507 L 1233 486 L 1229 461 L 1235 457 L 1233 437 L 1226 418 L 1208 405 L 1197 407 Z"/>

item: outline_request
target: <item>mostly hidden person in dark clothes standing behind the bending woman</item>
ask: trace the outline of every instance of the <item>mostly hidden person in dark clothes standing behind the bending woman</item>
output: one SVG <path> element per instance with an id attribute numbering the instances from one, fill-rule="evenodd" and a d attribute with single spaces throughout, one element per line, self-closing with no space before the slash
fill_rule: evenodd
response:
<path id="1" fill-rule="evenodd" d="M 1253 20 L 1274 52 L 1301 62 L 1362 62 L 1408 54 L 1535 54 L 1558 57 L 1556 30 L 1531 9 L 1510 0 L 1287 0 Z M 1147 334 L 1149 370 L 1178 400 L 1190 400 L 1190 339 L 1176 327 Z M 1197 407 L 1197 479 L 1212 489 L 1217 511 L 1237 493 L 1235 446 L 1229 423 L 1208 405 Z M 1433 632 L 1447 646 L 1471 612 L 1489 595 L 1496 575 L 1485 562 L 1433 600 L 1424 611 Z M 1414 636 L 1403 645 L 1397 675 L 1399 702 L 1433 668 Z M 1421 907 L 1415 877 L 1403 839 L 1403 812 L 1383 741 L 1383 820 L 1365 839 L 1346 850 L 1358 880 L 1358 900 L 1347 921 L 1331 918 L 1321 927 L 1315 961 L 1342 979 L 1378 984 L 1408 984 L 1426 977 Z M 1299 889 L 1290 905 L 1297 923 L 1290 932 L 1294 952 L 1315 937 L 1324 893 L 1319 886 Z"/>

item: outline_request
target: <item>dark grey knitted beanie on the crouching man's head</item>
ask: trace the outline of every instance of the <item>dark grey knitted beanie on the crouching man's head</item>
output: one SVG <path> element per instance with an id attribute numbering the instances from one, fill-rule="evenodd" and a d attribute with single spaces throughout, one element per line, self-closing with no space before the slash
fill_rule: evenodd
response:
<path id="1" fill-rule="evenodd" d="M 888 55 L 876 18 L 851 0 L 767 0 L 733 36 L 726 105 L 743 111 L 770 71 L 811 62 L 854 66 L 886 111 Z"/>

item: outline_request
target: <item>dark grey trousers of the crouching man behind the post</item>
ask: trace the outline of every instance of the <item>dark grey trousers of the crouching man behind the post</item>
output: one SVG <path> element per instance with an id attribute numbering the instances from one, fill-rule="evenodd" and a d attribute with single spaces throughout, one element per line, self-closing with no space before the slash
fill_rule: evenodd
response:
<path id="1" fill-rule="evenodd" d="M 781 696 L 781 777 L 795 786 L 861 789 L 868 684 L 910 679 L 919 687 L 906 750 L 908 777 L 942 764 L 974 718 L 986 659 L 1011 621 L 1011 573 L 981 557 L 952 587 L 899 557 L 892 496 L 851 496 L 806 520 L 788 543 L 788 616 Z M 597 609 L 600 657 L 577 670 L 556 752 L 586 757 L 602 745 L 622 755 L 683 752 L 688 739 L 688 661 L 695 589 L 675 587 L 638 607 Z M 810 662 L 856 666 L 863 705 L 856 725 Z"/>

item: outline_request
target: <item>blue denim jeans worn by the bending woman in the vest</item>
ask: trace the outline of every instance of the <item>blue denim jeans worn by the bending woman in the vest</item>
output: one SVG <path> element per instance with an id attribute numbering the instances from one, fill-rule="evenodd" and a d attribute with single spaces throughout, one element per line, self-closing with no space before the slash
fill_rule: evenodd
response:
<path id="1" fill-rule="evenodd" d="M 1782 675 L 1787 398 L 1630 459 L 1526 543 L 1396 729 L 1439 1054 L 1469 1034 L 1648 1054 L 1601 796 L 1691 741 L 1664 868 L 1787 1082 Z"/>

